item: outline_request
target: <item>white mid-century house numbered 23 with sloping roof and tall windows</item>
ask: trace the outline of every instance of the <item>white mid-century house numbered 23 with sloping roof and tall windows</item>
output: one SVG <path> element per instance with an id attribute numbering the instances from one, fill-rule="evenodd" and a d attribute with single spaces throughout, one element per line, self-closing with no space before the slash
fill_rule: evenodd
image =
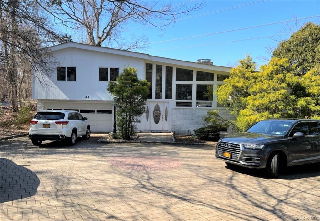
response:
<path id="1" fill-rule="evenodd" d="M 48 49 L 55 59 L 51 74 L 32 82 L 37 109 L 77 110 L 89 119 L 92 131 L 113 130 L 114 104 L 107 86 L 129 66 L 151 83 L 137 130 L 193 133 L 204 126 L 202 117 L 210 109 L 220 109 L 221 116 L 232 118 L 212 93 L 228 78 L 230 67 L 215 66 L 210 60 L 189 62 L 73 42 Z"/>

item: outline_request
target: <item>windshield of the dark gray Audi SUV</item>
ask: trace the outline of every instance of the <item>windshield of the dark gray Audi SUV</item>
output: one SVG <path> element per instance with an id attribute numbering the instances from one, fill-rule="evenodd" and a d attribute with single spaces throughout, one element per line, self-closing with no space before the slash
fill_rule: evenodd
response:
<path id="1" fill-rule="evenodd" d="M 292 124 L 292 122 L 286 121 L 260 121 L 250 127 L 247 132 L 283 136 L 288 132 Z"/>

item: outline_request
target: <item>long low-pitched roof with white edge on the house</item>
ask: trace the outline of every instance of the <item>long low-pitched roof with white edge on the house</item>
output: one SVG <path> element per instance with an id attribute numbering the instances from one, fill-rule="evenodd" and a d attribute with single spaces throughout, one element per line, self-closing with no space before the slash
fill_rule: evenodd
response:
<path id="1" fill-rule="evenodd" d="M 223 71 L 223 72 L 228 72 L 231 70 L 231 67 L 208 65 L 208 64 L 201 64 L 201 63 L 191 62 L 191 61 L 164 58 L 164 57 L 153 56 L 153 55 L 140 53 L 140 52 L 125 51 L 121 49 L 108 48 L 108 47 L 102 47 L 102 46 L 96 46 L 96 45 L 90 45 L 90 44 L 84 44 L 84 43 L 67 42 L 67 43 L 62 43 L 62 44 L 57 44 L 54 46 L 47 47 L 47 49 L 51 51 L 57 51 L 65 48 L 78 48 L 78 49 L 84 49 L 84 50 L 99 51 L 99 52 L 124 55 L 124 56 L 129 56 L 134 58 L 141 58 L 141 59 L 146 59 L 146 60 L 155 61 L 155 62 L 163 62 L 163 63 L 176 64 L 176 65 L 187 66 L 187 67 L 195 67 L 195 68 L 201 68 L 201 69 L 207 69 L 207 70 L 215 70 L 215 71 Z"/>

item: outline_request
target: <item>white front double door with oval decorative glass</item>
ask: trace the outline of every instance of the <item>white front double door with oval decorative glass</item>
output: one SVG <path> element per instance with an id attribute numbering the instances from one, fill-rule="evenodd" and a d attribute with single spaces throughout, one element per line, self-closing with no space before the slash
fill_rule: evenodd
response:
<path id="1" fill-rule="evenodd" d="M 169 130 L 169 102 L 148 102 L 144 117 L 146 130 Z"/>

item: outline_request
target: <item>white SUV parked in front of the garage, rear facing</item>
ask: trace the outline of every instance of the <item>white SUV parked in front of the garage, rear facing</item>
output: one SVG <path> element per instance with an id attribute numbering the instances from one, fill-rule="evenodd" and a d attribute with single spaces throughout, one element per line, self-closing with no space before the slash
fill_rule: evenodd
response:
<path id="1" fill-rule="evenodd" d="M 29 138 L 39 146 L 44 140 L 66 140 L 75 145 L 76 138 L 90 138 L 88 118 L 77 111 L 42 110 L 30 121 Z"/>

